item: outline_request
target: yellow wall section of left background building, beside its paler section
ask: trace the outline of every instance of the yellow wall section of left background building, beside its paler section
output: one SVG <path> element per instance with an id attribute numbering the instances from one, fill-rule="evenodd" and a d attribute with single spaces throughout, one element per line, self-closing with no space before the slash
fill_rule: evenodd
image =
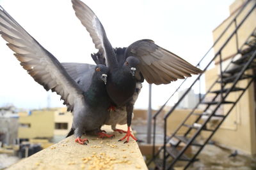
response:
<path id="1" fill-rule="evenodd" d="M 19 138 L 52 138 L 54 131 L 54 111 L 36 110 L 32 111 L 31 115 L 20 113 Z"/>

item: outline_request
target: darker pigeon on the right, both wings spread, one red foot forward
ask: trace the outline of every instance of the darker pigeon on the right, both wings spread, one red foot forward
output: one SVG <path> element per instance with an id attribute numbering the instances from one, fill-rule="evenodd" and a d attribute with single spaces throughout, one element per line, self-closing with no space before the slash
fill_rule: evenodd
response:
<path id="1" fill-rule="evenodd" d="M 119 141 L 126 139 L 127 143 L 130 137 L 137 140 L 130 129 L 134 106 L 132 96 L 136 91 L 136 83 L 142 83 L 145 79 L 156 85 L 168 84 L 178 78 L 202 73 L 202 70 L 156 45 L 151 39 L 135 41 L 127 48 L 113 48 L 95 13 L 79 0 L 72 0 L 72 6 L 77 18 L 90 33 L 95 48 L 99 50 L 92 55 L 93 60 L 109 68 L 106 89 L 113 106 L 126 108 L 127 134 Z"/>

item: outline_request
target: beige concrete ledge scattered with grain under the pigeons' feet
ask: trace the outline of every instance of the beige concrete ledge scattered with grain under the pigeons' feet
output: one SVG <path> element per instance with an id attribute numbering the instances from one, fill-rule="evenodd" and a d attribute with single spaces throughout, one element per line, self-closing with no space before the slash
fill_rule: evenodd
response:
<path id="1" fill-rule="evenodd" d="M 117 128 L 126 130 L 127 126 Z M 109 126 L 102 130 L 113 134 Z M 88 145 L 79 145 L 74 142 L 75 137 L 70 136 L 8 169 L 147 169 L 133 139 L 126 144 L 118 142 L 123 136 L 116 132 L 113 139 L 86 136 L 90 141 Z"/>

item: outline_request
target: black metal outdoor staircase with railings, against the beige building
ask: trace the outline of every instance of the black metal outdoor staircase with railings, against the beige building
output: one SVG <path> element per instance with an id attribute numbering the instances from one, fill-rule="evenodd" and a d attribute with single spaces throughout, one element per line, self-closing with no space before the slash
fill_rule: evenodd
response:
<path id="1" fill-rule="evenodd" d="M 248 5 L 250 4 L 250 5 Z M 252 8 L 249 8 L 252 6 Z M 199 95 L 198 103 L 195 108 L 188 114 L 188 116 L 181 122 L 179 127 L 172 133 L 171 136 L 167 135 L 167 124 L 166 121 L 168 117 L 173 113 L 175 108 L 182 103 L 182 100 L 191 89 L 194 89 L 196 85 L 200 84 L 200 80 L 202 79 L 202 74 L 200 74 L 191 86 L 186 90 L 186 92 L 180 97 L 179 101 L 164 115 L 164 141 L 163 146 L 156 152 L 155 149 L 155 141 L 156 141 L 156 120 L 161 115 L 163 108 L 166 106 L 166 103 L 172 99 L 172 97 L 177 93 L 179 89 L 182 88 L 184 83 L 187 81 L 184 80 L 180 87 L 172 94 L 172 96 L 166 101 L 166 103 L 160 108 L 159 111 L 154 115 L 154 138 L 153 138 L 153 157 L 151 160 L 147 162 L 147 164 L 151 164 L 154 162 L 156 165 L 156 169 L 173 169 L 177 162 L 182 161 L 184 169 L 187 169 L 192 162 L 195 162 L 197 155 L 201 152 L 204 146 L 209 142 L 213 134 L 218 130 L 220 125 L 223 123 L 225 118 L 227 118 L 228 114 L 232 111 L 234 106 L 236 106 L 237 102 L 243 96 L 244 92 L 252 82 L 255 80 L 255 72 L 250 69 L 256 68 L 256 29 L 250 34 L 250 36 L 246 39 L 243 45 L 239 46 L 237 32 L 241 28 L 241 26 L 246 22 L 246 19 L 250 17 L 251 13 L 255 12 L 256 3 L 255 1 L 246 1 L 236 14 L 236 17 L 232 19 L 230 24 L 228 24 L 227 28 L 222 32 L 220 37 L 215 41 L 214 45 L 210 48 L 210 50 L 205 54 L 205 56 L 200 60 L 197 66 L 202 66 L 202 62 L 204 62 L 205 57 L 208 53 L 216 46 L 216 43 L 223 37 L 224 34 L 227 34 L 227 30 L 230 27 L 234 27 L 234 31 L 228 36 L 227 40 L 220 47 L 220 50 L 216 52 L 211 61 L 204 67 L 204 71 L 208 69 L 208 67 L 214 62 L 214 60 L 219 59 L 220 62 L 220 74 L 216 81 L 212 83 L 211 87 L 205 92 L 205 95 Z M 243 13 L 243 20 L 239 24 L 237 24 L 237 18 L 241 18 L 241 13 Z M 244 15 L 244 13 L 246 13 Z M 223 69 L 223 60 L 222 54 L 223 49 L 228 45 L 231 39 L 236 39 L 236 50 L 237 54 L 230 59 L 229 64 Z M 244 80 L 246 83 L 243 83 L 243 87 L 239 85 L 239 81 Z M 247 80 L 247 81 L 246 81 Z M 243 81 L 243 82 L 244 82 Z M 196 87 L 197 88 L 197 87 Z M 232 94 L 236 92 L 236 97 Z M 202 113 L 198 113 L 195 111 L 200 108 Z M 202 109 L 203 108 L 203 109 Z M 223 109 L 225 108 L 225 109 Z M 189 124 L 188 120 L 194 117 L 193 123 Z M 209 126 L 209 122 L 215 120 L 215 124 L 213 127 Z M 180 134 L 180 129 L 186 129 L 185 132 Z M 204 132 L 205 138 L 204 140 L 197 140 L 198 135 Z M 193 155 L 186 155 L 186 151 L 189 150 L 191 146 L 194 146 L 195 153 Z M 162 156 L 162 157 L 161 157 Z M 161 157 L 161 159 L 160 159 Z"/>

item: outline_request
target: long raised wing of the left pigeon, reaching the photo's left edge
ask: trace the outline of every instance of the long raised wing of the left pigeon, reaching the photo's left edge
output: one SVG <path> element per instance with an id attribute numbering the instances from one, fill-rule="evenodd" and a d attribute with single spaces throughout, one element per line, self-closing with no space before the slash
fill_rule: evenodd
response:
<path id="1" fill-rule="evenodd" d="M 68 76 L 60 62 L 32 36 L 28 34 L 0 6 L 0 34 L 8 41 L 6 45 L 13 50 L 20 65 L 28 71 L 34 80 L 45 90 L 56 92 L 72 111 L 77 99 L 83 99 L 83 90 Z"/>

